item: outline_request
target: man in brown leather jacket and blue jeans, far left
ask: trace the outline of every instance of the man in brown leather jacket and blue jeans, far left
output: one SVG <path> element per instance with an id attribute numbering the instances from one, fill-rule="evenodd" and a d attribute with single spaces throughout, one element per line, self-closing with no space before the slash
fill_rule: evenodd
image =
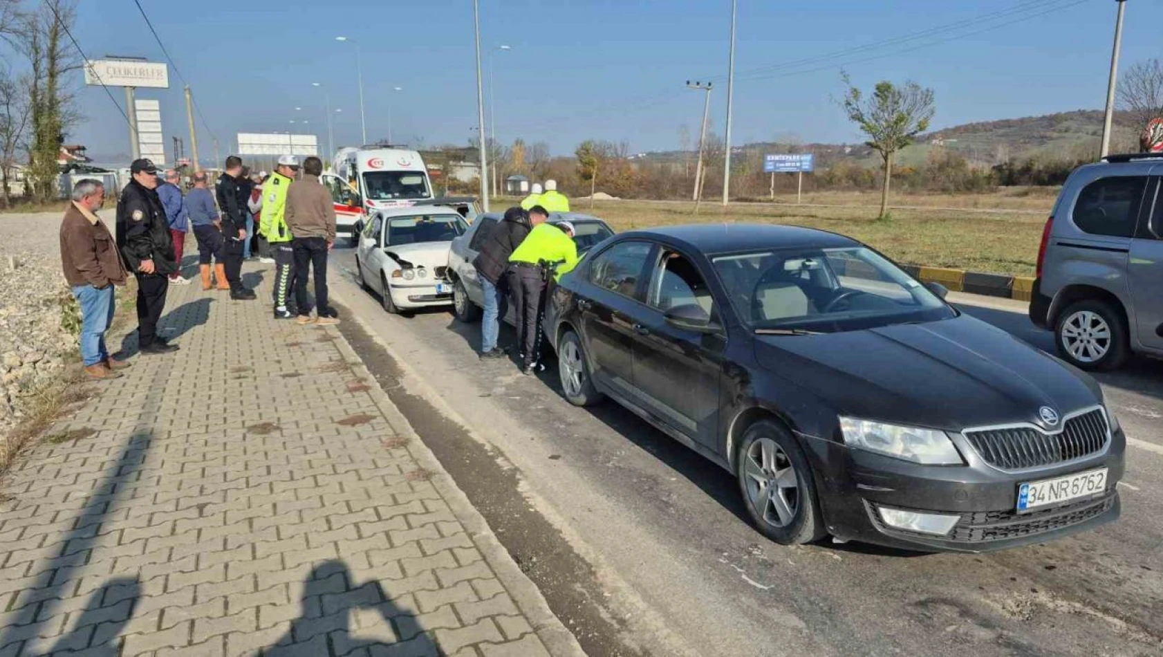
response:
<path id="1" fill-rule="evenodd" d="M 113 287 L 126 284 L 126 267 L 117 245 L 97 216 L 105 202 L 105 187 L 81 180 L 72 191 L 72 203 L 60 222 L 60 266 L 81 312 L 80 355 L 94 379 L 112 379 L 128 366 L 109 357 L 105 333 L 113 321 Z"/>

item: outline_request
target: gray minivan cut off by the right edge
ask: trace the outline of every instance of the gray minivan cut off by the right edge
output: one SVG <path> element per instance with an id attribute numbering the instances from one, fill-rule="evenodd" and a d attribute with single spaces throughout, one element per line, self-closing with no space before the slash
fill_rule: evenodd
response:
<path id="1" fill-rule="evenodd" d="M 1163 153 L 1070 174 L 1042 231 L 1029 317 L 1084 370 L 1163 357 Z"/>

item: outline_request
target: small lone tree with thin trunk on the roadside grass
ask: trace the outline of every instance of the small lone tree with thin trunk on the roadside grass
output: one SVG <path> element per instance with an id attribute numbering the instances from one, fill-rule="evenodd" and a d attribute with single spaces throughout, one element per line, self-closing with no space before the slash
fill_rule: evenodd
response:
<path id="1" fill-rule="evenodd" d="M 880 153 L 884 160 L 884 186 L 880 190 L 880 217 L 889 213 L 889 181 L 892 177 L 892 156 L 913 143 L 916 135 L 928 130 L 929 121 L 936 112 L 933 90 L 914 81 L 896 86 L 890 81 L 877 83 L 872 97 L 864 99 L 861 90 L 852 86 L 847 73 L 842 74 L 844 100 L 841 106 L 848 120 L 859 126 L 869 136 L 865 142 Z"/>

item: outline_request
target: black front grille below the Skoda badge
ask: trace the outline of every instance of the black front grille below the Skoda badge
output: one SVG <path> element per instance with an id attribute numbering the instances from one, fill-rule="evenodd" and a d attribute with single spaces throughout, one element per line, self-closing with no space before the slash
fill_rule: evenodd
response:
<path id="1" fill-rule="evenodd" d="M 1096 408 L 1066 420 L 1057 434 L 1047 434 L 1034 427 L 1015 427 L 965 431 L 964 435 L 990 465 L 1025 470 L 1097 454 L 1106 447 L 1110 433 L 1106 415 Z"/>

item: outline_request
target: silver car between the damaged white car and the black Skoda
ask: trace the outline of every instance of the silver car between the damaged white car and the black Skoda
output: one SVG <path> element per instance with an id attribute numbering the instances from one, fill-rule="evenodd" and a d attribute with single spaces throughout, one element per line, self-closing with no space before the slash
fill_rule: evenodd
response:
<path id="1" fill-rule="evenodd" d="M 481 214 L 464 235 L 452 240 L 448 252 L 448 277 L 452 283 L 452 308 L 462 322 L 475 322 L 480 319 L 485 293 L 480 290 L 480 279 L 477 278 L 477 269 L 472 266 L 472 260 L 477 258 L 488 229 L 497 226 L 500 220 L 499 213 Z M 573 242 L 578 245 L 579 256 L 614 235 L 605 221 L 590 214 L 554 213 L 549 221 L 569 221 L 573 224 Z M 512 306 L 501 319 L 511 324 L 514 323 Z"/>

